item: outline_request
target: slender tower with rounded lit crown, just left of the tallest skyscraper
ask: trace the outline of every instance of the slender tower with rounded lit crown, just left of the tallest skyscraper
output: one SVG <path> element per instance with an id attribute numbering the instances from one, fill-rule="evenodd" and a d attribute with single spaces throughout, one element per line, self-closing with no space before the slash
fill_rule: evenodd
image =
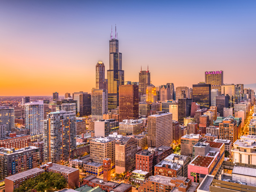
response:
<path id="1" fill-rule="evenodd" d="M 96 89 L 108 90 L 108 79 L 105 79 L 105 65 L 102 61 L 96 64 Z"/>

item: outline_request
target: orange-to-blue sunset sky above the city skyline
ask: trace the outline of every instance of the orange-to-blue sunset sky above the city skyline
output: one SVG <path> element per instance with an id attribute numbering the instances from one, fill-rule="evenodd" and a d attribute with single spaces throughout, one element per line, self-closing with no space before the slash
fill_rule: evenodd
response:
<path id="1" fill-rule="evenodd" d="M 223 70 L 224 83 L 256 87 L 255 10 L 255 0 L 1 0 L 0 96 L 91 92 L 98 61 L 107 78 L 115 24 L 125 81 L 148 66 L 155 86 Z"/>

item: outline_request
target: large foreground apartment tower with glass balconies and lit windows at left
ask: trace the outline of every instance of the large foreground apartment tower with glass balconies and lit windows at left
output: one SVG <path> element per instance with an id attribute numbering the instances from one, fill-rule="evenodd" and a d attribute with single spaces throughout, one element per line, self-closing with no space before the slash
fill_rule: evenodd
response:
<path id="1" fill-rule="evenodd" d="M 76 149 L 76 113 L 51 112 L 44 120 L 44 161 L 61 165 L 72 158 Z"/>

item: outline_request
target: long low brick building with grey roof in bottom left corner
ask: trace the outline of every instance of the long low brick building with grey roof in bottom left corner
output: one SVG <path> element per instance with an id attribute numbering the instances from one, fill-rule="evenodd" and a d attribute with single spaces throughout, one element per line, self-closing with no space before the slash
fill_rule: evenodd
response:
<path id="1" fill-rule="evenodd" d="M 41 173 L 44 172 L 44 169 L 34 168 L 30 169 L 29 171 L 21 172 L 16 175 L 12 175 L 10 177 L 5 178 L 5 191 L 6 192 L 13 192 L 14 189 L 17 189 L 21 184 L 30 179 L 34 178 Z"/>

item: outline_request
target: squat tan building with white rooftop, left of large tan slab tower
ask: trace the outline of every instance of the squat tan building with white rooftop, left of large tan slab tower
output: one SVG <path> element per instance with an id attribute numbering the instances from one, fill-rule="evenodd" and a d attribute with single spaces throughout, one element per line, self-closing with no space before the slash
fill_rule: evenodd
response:
<path id="1" fill-rule="evenodd" d="M 141 133 L 143 120 L 125 119 L 119 122 L 119 134 L 126 136 L 127 134 L 138 135 Z"/>

